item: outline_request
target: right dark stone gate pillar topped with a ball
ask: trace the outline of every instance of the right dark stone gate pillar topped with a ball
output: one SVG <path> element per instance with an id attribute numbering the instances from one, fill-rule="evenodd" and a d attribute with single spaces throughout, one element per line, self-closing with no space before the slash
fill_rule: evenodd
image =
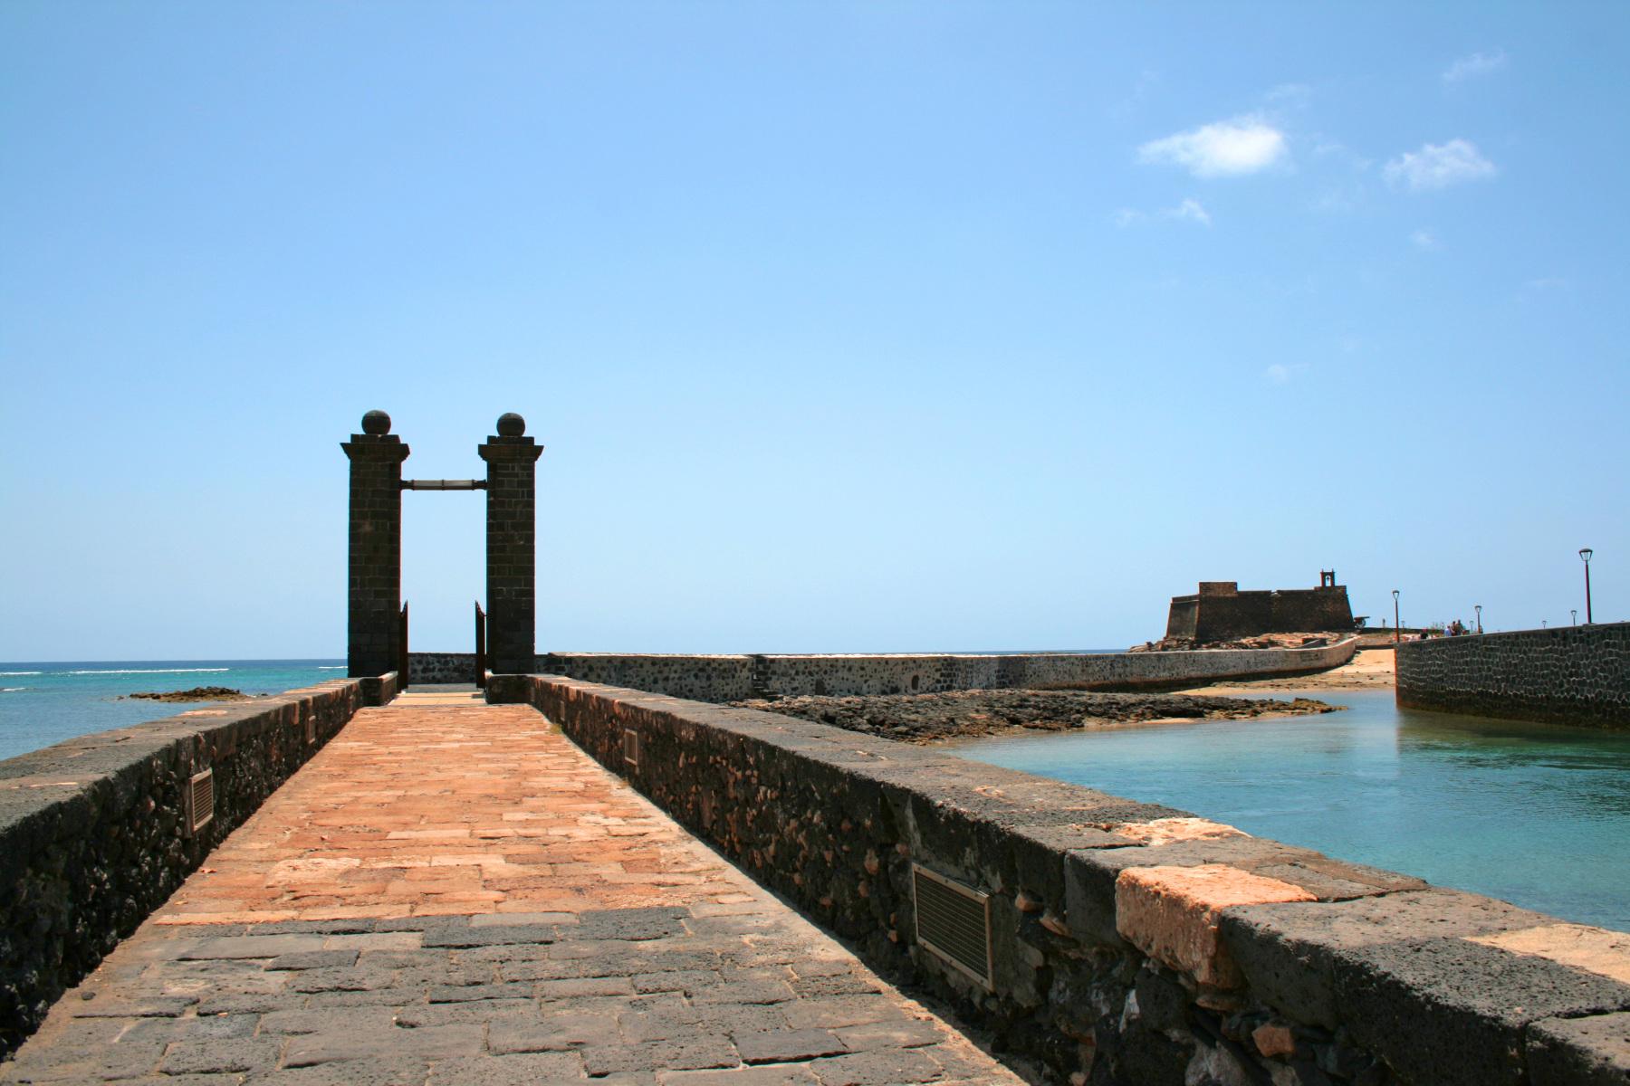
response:
<path id="1" fill-rule="evenodd" d="M 538 456 L 526 420 L 510 412 L 481 446 L 487 462 L 487 668 L 533 671 L 538 642 Z"/>

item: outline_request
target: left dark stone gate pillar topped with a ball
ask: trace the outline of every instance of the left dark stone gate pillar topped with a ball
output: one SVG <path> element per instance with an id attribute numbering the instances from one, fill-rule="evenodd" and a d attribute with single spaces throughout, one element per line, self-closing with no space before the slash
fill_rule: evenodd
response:
<path id="1" fill-rule="evenodd" d="M 362 433 L 342 441 L 350 459 L 350 567 L 346 611 L 346 674 L 394 671 L 401 651 L 403 461 L 408 446 L 391 417 L 370 410 Z"/>

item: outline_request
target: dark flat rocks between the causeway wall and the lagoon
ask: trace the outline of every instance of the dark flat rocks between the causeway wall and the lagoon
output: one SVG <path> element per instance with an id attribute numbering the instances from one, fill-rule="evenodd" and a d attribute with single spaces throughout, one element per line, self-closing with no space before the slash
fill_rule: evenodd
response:
<path id="1" fill-rule="evenodd" d="M 1330 713 L 1312 698 L 1209 694 L 1095 694 L 1087 690 L 954 690 L 864 697 L 784 697 L 730 702 L 903 742 L 942 742 L 1015 731 L 1077 731 L 1185 720 L 1249 720 Z"/>

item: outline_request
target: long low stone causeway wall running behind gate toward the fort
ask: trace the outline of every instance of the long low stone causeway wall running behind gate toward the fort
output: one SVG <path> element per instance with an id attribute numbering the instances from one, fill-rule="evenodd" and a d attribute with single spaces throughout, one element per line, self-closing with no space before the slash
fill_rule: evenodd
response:
<path id="1" fill-rule="evenodd" d="M 973 655 L 738 655 L 546 653 L 538 674 L 668 694 L 698 702 L 808 694 L 937 694 L 993 689 L 1175 687 L 1208 679 L 1284 676 L 1338 668 L 1356 638 L 1322 648 L 1205 650 L 1187 653 Z M 422 661 L 422 663 L 421 663 Z M 412 653 L 412 682 L 469 682 L 473 653 Z"/>

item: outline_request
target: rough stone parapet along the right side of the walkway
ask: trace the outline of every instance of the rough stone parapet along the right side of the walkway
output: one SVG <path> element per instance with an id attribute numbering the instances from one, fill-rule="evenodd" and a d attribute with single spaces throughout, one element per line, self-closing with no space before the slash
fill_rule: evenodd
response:
<path id="1" fill-rule="evenodd" d="M 875 969 L 952 1001 L 1051 1081 L 1557 1086 L 1630 1073 L 1630 985 L 1498 946 L 1553 931 L 1550 917 L 773 713 L 549 676 L 496 679 L 487 697 L 530 700 Z M 913 863 L 989 894 L 989 988 L 918 943 Z M 1227 907 L 1196 912 L 1148 892 L 1185 878 L 1276 887 L 1281 904 L 1222 894 Z"/>

